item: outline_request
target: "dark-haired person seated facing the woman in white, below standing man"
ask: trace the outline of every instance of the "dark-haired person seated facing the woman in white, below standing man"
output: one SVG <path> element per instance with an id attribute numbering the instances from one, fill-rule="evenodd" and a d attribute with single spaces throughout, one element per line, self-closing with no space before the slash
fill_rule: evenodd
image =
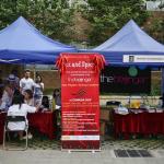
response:
<path id="1" fill-rule="evenodd" d="M 33 98 L 33 91 L 32 90 L 25 90 L 24 91 L 24 103 L 34 106 L 34 98 Z"/>

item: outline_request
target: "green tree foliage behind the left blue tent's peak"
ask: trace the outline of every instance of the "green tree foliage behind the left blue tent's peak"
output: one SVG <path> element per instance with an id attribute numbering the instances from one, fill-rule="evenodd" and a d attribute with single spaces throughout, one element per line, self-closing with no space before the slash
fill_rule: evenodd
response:
<path id="1" fill-rule="evenodd" d="M 68 43 L 73 34 L 73 12 L 67 0 L 1 0 L 0 28 L 22 15 L 44 34 Z"/>

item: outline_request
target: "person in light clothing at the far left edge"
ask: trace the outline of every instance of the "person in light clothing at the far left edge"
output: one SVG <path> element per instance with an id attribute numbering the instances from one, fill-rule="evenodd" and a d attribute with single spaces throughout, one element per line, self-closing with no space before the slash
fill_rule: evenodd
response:
<path id="1" fill-rule="evenodd" d="M 12 104 L 13 95 L 14 95 L 14 90 L 12 89 L 10 84 L 7 84 L 4 86 L 2 98 L 0 101 L 0 109 L 8 110 L 8 108 Z"/>

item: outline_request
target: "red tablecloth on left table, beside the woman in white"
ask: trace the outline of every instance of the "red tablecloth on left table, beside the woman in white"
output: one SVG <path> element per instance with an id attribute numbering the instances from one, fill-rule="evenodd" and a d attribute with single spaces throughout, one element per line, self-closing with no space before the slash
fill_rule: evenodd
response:
<path id="1" fill-rule="evenodd" d="M 3 126 L 7 114 L 0 113 L 0 143 L 3 140 Z M 28 114 L 28 125 L 30 127 L 38 129 L 38 131 L 48 136 L 49 139 L 55 138 L 56 130 L 56 115 L 55 113 L 35 113 Z"/>

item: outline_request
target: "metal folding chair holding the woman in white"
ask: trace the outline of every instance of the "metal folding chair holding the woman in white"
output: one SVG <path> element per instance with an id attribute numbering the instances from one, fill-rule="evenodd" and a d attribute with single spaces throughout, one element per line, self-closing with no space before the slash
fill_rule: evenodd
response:
<path id="1" fill-rule="evenodd" d="M 25 122 L 25 128 L 23 130 L 10 130 L 8 128 L 8 124 L 9 122 Z M 8 133 L 8 137 L 9 137 L 9 132 L 11 131 L 25 131 L 25 137 L 26 137 L 26 140 L 25 140 L 25 147 L 22 148 L 22 149 L 9 149 L 8 147 L 5 147 L 5 136 Z M 7 119 L 5 119 L 5 124 L 4 124 L 4 131 L 3 131 L 3 149 L 5 150 L 26 150 L 27 149 L 27 142 L 28 142 L 28 126 L 26 124 L 26 118 L 24 116 L 7 116 Z"/>

